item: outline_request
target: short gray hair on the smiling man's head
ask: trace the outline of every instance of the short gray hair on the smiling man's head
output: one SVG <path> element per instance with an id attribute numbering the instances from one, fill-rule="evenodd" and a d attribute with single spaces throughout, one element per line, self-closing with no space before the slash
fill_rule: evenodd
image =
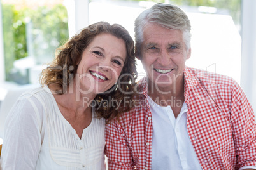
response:
<path id="1" fill-rule="evenodd" d="M 186 48 L 187 50 L 190 49 L 191 25 L 186 13 L 177 6 L 158 3 L 143 11 L 135 20 L 135 51 L 137 57 L 141 58 L 143 29 L 147 23 L 157 23 L 167 29 L 181 30 Z"/>

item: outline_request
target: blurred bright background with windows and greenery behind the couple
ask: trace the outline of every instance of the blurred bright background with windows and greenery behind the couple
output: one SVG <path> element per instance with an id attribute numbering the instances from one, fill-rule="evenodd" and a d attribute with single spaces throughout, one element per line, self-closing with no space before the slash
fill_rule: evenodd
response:
<path id="1" fill-rule="evenodd" d="M 0 138 L 3 105 L 15 101 L 4 103 L 6 95 L 38 86 L 41 69 L 58 46 L 101 20 L 123 25 L 134 37 L 135 18 L 155 3 L 176 4 L 190 18 L 192 57 L 187 65 L 232 77 L 255 110 L 255 0 L 0 0 Z M 145 72 L 137 63 L 142 77 Z"/>

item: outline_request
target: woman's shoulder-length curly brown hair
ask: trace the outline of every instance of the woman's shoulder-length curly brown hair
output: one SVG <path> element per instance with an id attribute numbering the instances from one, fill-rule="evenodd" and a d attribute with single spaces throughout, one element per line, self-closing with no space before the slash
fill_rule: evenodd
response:
<path id="1" fill-rule="evenodd" d="M 126 46 L 126 59 L 124 67 L 111 90 L 101 93 L 94 98 L 96 101 L 96 112 L 99 117 L 104 117 L 111 121 L 122 112 L 127 112 L 133 107 L 132 98 L 135 95 L 134 86 L 137 78 L 134 41 L 129 32 L 118 24 L 110 25 L 108 22 L 97 22 L 83 29 L 79 34 L 71 37 L 66 44 L 57 49 L 55 59 L 41 73 L 41 86 L 48 84 L 57 84 L 60 88 L 55 91 L 59 95 L 66 92 L 67 86 L 73 81 L 73 75 L 76 74 L 77 65 L 82 58 L 82 53 L 92 42 L 94 37 L 99 34 L 111 34 L 117 38 L 123 39 Z M 129 100 L 129 104 L 127 104 Z M 116 108 L 115 103 L 120 103 Z M 125 105 L 126 101 L 126 105 Z"/>

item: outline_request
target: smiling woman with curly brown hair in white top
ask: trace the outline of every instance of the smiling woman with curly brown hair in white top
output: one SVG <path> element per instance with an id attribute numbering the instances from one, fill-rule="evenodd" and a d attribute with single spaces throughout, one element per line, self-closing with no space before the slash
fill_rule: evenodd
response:
<path id="1" fill-rule="evenodd" d="M 134 42 L 124 27 L 99 22 L 83 29 L 43 70 L 42 88 L 11 109 L 3 169 L 105 169 L 102 117 L 110 121 L 129 109 L 124 98 L 132 97 L 136 75 Z"/>

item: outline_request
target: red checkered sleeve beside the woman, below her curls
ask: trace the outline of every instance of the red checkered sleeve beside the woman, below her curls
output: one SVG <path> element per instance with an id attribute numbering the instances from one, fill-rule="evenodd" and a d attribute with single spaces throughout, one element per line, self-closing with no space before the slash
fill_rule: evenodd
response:
<path id="1" fill-rule="evenodd" d="M 116 120 L 111 121 L 110 124 L 106 124 L 105 138 L 105 154 L 108 157 L 108 169 L 134 169 L 132 151 L 129 145 L 127 145 L 122 126 Z"/>

